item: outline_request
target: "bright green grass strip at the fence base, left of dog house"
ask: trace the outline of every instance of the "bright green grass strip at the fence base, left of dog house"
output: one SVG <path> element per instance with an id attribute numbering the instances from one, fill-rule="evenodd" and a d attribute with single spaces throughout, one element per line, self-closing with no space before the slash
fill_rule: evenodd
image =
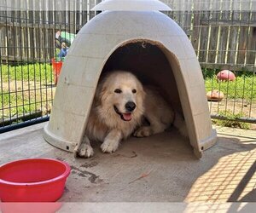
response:
<path id="1" fill-rule="evenodd" d="M 0 73 L 3 82 L 10 81 L 36 81 L 51 83 L 52 68 L 49 64 L 28 64 L 22 66 L 1 65 Z"/>

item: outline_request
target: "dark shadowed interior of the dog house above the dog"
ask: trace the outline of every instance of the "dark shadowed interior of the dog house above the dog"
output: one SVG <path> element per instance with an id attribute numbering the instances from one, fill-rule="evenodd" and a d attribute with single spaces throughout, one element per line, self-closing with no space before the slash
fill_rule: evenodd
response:
<path id="1" fill-rule="evenodd" d="M 144 85 L 160 89 L 165 100 L 182 113 L 172 67 L 160 45 L 148 41 L 126 43 L 108 58 L 102 74 L 113 70 L 132 72 Z"/>

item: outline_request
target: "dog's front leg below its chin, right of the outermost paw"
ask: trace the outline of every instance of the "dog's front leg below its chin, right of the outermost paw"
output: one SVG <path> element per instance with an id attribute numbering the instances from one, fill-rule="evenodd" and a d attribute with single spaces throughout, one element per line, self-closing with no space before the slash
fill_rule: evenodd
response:
<path id="1" fill-rule="evenodd" d="M 120 130 L 112 130 L 108 133 L 104 142 L 102 143 L 103 153 L 113 153 L 119 147 L 119 142 L 121 141 L 123 135 Z"/>

